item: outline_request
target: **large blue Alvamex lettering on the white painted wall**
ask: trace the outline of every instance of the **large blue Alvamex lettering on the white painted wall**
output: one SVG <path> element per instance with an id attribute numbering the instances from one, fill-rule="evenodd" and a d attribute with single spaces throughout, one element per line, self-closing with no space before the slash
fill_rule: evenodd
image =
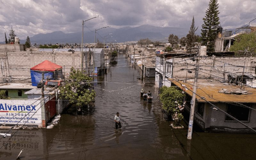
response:
<path id="1" fill-rule="evenodd" d="M 36 105 L 7 105 L 6 103 L 0 103 L 0 112 L 11 111 L 36 111 Z"/>

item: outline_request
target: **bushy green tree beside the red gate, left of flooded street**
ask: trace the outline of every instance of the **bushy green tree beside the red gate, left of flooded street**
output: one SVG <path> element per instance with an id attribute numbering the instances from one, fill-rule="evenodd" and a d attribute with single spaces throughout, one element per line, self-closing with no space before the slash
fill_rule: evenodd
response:
<path id="1" fill-rule="evenodd" d="M 65 85 L 60 87 L 60 98 L 69 100 L 71 104 L 76 104 L 77 110 L 94 101 L 96 92 L 91 90 L 93 79 L 84 75 L 79 69 L 70 69 L 70 75 L 65 81 Z"/>

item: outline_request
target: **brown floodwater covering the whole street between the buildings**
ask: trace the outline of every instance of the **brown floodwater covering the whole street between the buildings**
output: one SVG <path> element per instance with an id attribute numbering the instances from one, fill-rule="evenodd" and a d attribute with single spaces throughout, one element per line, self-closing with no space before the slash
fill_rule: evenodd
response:
<path id="1" fill-rule="evenodd" d="M 164 119 L 154 78 L 143 82 L 141 71 L 125 55 L 104 76 L 97 77 L 95 107 L 76 114 L 71 106 L 53 129 L 20 130 L 1 139 L 0 159 L 255 159 L 255 134 L 206 133 L 196 128 L 192 140 L 184 129 Z M 140 98 L 152 92 L 153 101 Z M 120 113 L 122 129 L 115 129 Z M 0 131 L 1 132 L 1 131 Z M 16 131 L 12 131 L 13 134 Z"/>

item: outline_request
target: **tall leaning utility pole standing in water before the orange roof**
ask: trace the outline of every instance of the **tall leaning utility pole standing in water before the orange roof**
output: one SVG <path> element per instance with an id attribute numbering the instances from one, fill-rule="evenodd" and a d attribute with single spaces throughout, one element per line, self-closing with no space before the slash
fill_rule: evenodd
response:
<path id="1" fill-rule="evenodd" d="M 193 122 L 194 122 L 194 114 L 195 114 L 195 105 L 196 105 L 196 88 L 197 88 L 197 77 L 198 77 L 198 69 L 199 69 L 199 57 L 200 57 L 200 48 L 201 44 L 199 44 L 199 49 L 196 58 L 196 71 L 195 71 L 195 79 L 193 85 L 193 96 L 192 101 L 190 102 L 190 115 L 189 115 L 189 123 L 188 123 L 188 140 L 192 139 L 192 131 L 193 131 Z"/>

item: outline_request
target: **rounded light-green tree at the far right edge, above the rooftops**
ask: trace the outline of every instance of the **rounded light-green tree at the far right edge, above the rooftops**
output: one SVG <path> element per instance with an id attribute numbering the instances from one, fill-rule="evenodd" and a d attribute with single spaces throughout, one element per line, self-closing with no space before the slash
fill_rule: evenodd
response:
<path id="1" fill-rule="evenodd" d="M 236 41 L 230 47 L 230 51 L 236 56 L 255 57 L 256 56 L 256 32 L 236 36 Z"/>

